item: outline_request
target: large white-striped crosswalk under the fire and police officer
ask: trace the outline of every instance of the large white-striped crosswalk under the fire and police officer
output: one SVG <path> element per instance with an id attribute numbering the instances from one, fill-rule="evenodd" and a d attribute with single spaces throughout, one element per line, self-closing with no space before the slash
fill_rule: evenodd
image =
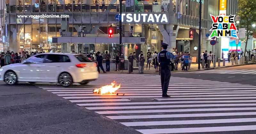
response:
<path id="1" fill-rule="evenodd" d="M 121 83 L 119 95 L 92 93 L 113 80 Z M 171 77 L 171 98 L 161 96 L 156 75 L 104 74 L 88 85 L 67 88 L 35 85 L 145 134 L 256 131 L 252 85 Z"/>

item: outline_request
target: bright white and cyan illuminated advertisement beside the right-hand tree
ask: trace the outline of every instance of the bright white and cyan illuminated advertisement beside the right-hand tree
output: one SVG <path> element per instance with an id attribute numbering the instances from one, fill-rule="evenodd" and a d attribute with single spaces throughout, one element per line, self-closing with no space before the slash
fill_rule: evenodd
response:
<path id="1" fill-rule="evenodd" d="M 237 45 L 237 51 L 240 53 L 240 48 L 241 48 L 241 41 L 239 40 L 239 44 Z M 221 37 L 221 50 L 224 53 L 224 58 L 228 59 L 228 51 L 236 52 L 236 41 L 235 40 L 230 40 L 229 38 Z M 220 57 L 221 57 L 221 52 L 220 52 Z"/>

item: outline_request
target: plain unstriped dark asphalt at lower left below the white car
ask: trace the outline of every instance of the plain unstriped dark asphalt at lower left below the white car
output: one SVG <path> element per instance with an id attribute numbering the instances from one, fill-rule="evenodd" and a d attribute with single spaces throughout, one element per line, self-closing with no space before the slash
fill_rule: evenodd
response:
<path id="1" fill-rule="evenodd" d="M 31 84 L 0 82 L 0 133 L 139 133 Z"/>

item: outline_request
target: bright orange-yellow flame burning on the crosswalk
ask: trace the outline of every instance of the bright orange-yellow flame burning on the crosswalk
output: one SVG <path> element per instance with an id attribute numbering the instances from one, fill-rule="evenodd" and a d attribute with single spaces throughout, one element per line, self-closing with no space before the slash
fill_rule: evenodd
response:
<path id="1" fill-rule="evenodd" d="M 110 85 L 102 86 L 98 89 L 93 89 L 93 93 L 97 94 L 113 94 L 117 89 L 119 89 L 121 84 L 116 85 L 116 81 L 111 82 Z"/>

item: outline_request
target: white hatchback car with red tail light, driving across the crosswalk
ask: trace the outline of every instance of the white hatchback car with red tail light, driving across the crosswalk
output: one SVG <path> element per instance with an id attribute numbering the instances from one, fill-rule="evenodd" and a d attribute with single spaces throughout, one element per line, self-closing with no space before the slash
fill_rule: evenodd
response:
<path id="1" fill-rule="evenodd" d="M 59 83 L 67 87 L 72 83 L 85 85 L 98 76 L 96 63 L 81 54 L 42 53 L 0 68 L 0 80 L 8 85 L 22 81 Z"/>

